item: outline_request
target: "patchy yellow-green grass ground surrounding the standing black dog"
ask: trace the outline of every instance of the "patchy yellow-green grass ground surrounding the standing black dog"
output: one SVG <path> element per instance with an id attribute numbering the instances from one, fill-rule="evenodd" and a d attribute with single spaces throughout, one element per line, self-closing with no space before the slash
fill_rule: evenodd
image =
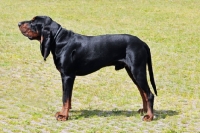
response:
<path id="1" fill-rule="evenodd" d="M 200 1 L 0 1 L 0 132 L 200 132 Z M 39 43 L 17 23 L 48 15 L 86 35 L 133 34 L 151 48 L 158 88 L 155 120 L 141 121 L 142 101 L 124 70 L 77 77 L 72 111 L 57 122 L 60 75 Z"/>

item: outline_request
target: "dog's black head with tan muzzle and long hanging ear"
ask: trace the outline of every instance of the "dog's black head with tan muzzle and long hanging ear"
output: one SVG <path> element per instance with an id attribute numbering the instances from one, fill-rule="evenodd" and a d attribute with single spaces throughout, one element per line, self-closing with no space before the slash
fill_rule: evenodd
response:
<path id="1" fill-rule="evenodd" d="M 32 20 L 19 22 L 18 26 L 24 36 L 40 41 L 40 50 L 46 60 L 51 51 L 52 39 L 55 39 L 60 25 L 50 17 L 36 16 Z"/>

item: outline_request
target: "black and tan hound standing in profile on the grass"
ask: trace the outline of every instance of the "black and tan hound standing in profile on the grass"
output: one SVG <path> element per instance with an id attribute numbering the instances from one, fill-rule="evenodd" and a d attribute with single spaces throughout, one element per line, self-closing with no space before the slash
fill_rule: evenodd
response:
<path id="1" fill-rule="evenodd" d="M 53 55 L 63 86 L 63 107 L 55 115 L 58 121 L 68 120 L 76 76 L 84 76 L 107 66 L 115 66 L 115 70 L 126 69 L 142 97 L 143 108 L 138 112 L 146 113 L 144 121 L 153 120 L 154 95 L 146 76 L 148 66 L 150 82 L 157 95 L 151 53 L 148 45 L 138 37 L 129 34 L 81 35 L 63 28 L 48 16 L 19 22 L 18 27 L 24 36 L 40 42 L 45 61 L 50 52 Z"/>

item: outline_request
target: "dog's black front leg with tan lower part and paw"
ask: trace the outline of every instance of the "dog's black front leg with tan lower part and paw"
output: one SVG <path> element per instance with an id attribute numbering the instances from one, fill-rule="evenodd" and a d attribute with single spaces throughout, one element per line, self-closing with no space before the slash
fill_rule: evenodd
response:
<path id="1" fill-rule="evenodd" d="M 63 107 L 60 112 L 56 113 L 56 119 L 58 121 L 68 120 L 69 109 L 71 108 L 71 96 L 72 89 L 75 80 L 74 75 L 65 75 L 61 73 L 62 86 L 63 86 Z"/>

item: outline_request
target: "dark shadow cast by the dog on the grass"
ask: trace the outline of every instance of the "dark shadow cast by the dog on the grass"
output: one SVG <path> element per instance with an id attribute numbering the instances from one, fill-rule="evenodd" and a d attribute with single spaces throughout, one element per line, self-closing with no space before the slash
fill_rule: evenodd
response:
<path id="1" fill-rule="evenodd" d="M 112 117 L 112 116 L 141 116 L 137 111 L 126 111 L 126 110 L 117 110 L 113 109 L 112 111 L 103 111 L 103 110 L 71 110 L 70 119 L 80 119 L 80 118 L 91 118 L 91 117 Z M 178 115 L 179 113 L 173 110 L 155 110 L 155 119 L 165 119 L 169 116 Z M 142 115 L 143 116 L 143 115 Z"/>

